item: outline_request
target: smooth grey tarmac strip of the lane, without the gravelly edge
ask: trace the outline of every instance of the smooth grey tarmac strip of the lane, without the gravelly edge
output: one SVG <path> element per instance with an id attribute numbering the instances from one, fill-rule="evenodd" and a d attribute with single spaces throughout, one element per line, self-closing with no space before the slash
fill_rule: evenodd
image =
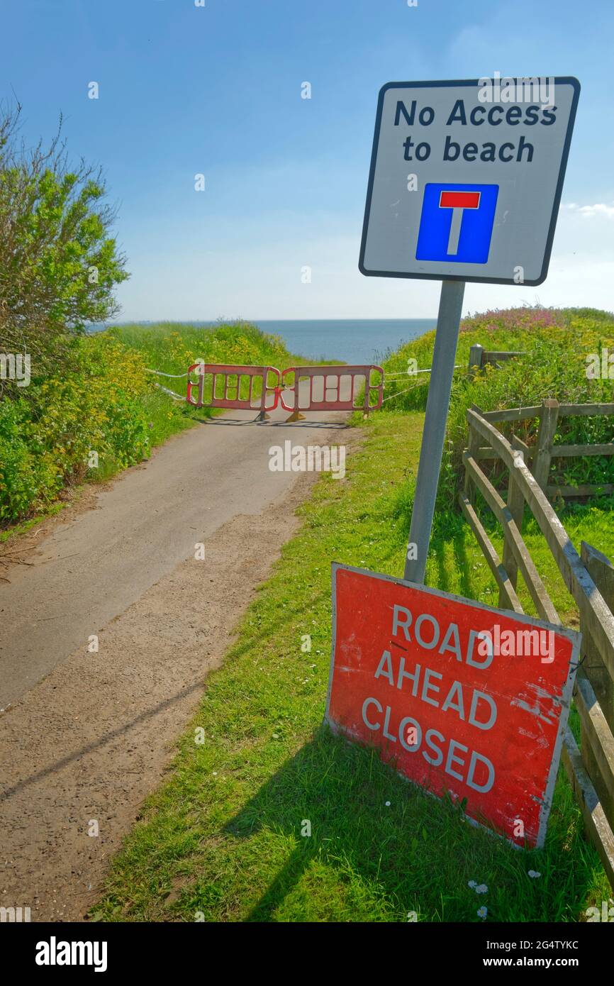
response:
<path id="1" fill-rule="evenodd" d="M 313 417 L 314 415 L 311 415 Z M 347 415 L 284 425 L 230 411 L 175 436 L 98 496 L 97 509 L 55 526 L 0 584 L 0 707 L 15 702 L 223 524 L 260 514 L 290 489 L 269 449 L 338 445 Z M 324 427 L 322 427 L 324 425 Z M 333 426 L 331 428 L 331 426 Z"/>

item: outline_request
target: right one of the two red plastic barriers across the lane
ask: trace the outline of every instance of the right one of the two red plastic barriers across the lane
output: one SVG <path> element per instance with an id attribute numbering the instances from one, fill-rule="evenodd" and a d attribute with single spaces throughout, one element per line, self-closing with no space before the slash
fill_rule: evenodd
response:
<path id="1" fill-rule="evenodd" d="M 379 383 L 373 380 L 374 373 L 379 375 Z M 293 386 L 286 383 L 290 374 L 295 375 Z M 308 388 L 301 391 L 300 382 L 307 378 Z M 321 383 L 318 381 L 321 378 Z M 365 395 L 361 403 L 357 396 L 361 387 L 365 386 Z M 282 371 L 280 401 L 285 411 L 292 411 L 292 419 L 297 420 L 301 411 L 355 411 L 361 408 L 367 414 L 381 407 L 383 397 L 383 370 L 375 365 L 369 366 L 325 366 L 325 367 L 288 367 Z M 288 405 L 284 399 L 284 390 L 294 391 L 295 399 Z M 372 403 L 375 394 L 375 403 Z"/>

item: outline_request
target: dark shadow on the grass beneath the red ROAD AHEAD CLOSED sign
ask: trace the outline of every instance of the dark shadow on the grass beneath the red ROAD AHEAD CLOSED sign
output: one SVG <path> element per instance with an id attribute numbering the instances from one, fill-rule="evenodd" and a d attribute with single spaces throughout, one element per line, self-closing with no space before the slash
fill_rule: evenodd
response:
<path id="1" fill-rule="evenodd" d="M 470 825 L 449 799 L 437 800 L 405 782 L 375 750 L 334 737 L 322 726 L 223 831 L 253 840 L 245 848 L 251 861 L 256 853 L 266 857 L 266 848 L 258 846 L 261 835 L 284 836 L 282 848 L 276 843 L 269 858 L 286 852 L 285 862 L 245 921 L 406 921 L 412 910 L 419 920 L 479 921 L 477 910 L 485 902 L 493 920 L 558 921 L 575 919 L 594 868 L 588 847 L 585 866 L 570 852 L 570 840 L 576 842 L 580 832 L 571 834 L 565 815 L 553 812 L 544 850 L 518 851 Z M 303 834 L 306 822 L 310 835 Z M 289 840 L 294 848 L 287 852 Z M 243 851 L 236 856 L 237 846 L 227 846 L 233 865 L 240 865 Z M 332 867 L 331 877 L 323 875 L 322 865 Z M 299 884 L 312 866 L 306 916 L 305 886 Z M 263 867 L 270 873 L 275 864 Z M 531 868 L 543 879 L 528 879 Z M 319 880 L 332 880 L 336 889 L 328 892 L 326 884 L 320 892 Z M 476 897 L 469 880 L 488 884 L 488 900 Z M 353 899 L 362 901 L 361 916 L 352 916 Z M 335 908 L 338 913 L 331 913 Z"/>

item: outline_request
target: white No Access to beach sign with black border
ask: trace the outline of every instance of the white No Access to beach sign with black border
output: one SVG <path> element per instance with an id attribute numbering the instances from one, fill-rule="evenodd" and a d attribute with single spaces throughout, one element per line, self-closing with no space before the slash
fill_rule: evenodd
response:
<path id="1" fill-rule="evenodd" d="M 541 284 L 579 95 L 571 77 L 383 86 L 362 273 Z"/>

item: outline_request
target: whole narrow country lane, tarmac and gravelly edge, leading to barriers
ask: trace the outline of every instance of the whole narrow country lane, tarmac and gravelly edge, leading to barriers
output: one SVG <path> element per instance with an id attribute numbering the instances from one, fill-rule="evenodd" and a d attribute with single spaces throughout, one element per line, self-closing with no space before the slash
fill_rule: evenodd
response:
<path id="1" fill-rule="evenodd" d="M 61 517 L 0 585 L 0 905 L 79 920 L 158 786 L 313 474 L 269 449 L 345 444 L 346 415 L 230 411 Z M 203 542 L 204 560 L 194 557 Z M 92 635 L 98 652 L 88 650 Z M 98 834 L 93 834 L 98 832 Z"/>

